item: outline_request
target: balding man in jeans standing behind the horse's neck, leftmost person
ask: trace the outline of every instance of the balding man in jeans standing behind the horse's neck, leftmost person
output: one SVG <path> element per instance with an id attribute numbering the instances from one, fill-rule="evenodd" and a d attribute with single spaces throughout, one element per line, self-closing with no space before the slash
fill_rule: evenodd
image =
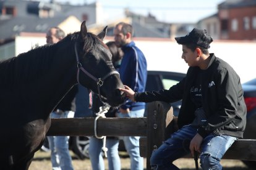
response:
<path id="1" fill-rule="evenodd" d="M 65 37 L 65 33 L 59 27 L 51 27 L 46 33 L 46 43 L 58 43 Z M 75 95 L 77 85 L 73 86 L 62 98 L 51 113 L 51 118 L 74 118 Z M 69 136 L 48 136 L 51 150 L 51 164 L 54 170 L 73 170 L 72 159 L 69 155 Z"/>

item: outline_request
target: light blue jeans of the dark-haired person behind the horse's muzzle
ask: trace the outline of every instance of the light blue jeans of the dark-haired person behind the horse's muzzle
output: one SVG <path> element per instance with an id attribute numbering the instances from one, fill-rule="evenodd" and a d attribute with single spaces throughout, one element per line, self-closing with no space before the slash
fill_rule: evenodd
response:
<path id="1" fill-rule="evenodd" d="M 108 169 L 120 170 L 121 161 L 118 155 L 119 139 L 106 139 L 106 147 L 108 148 Z M 93 170 L 105 170 L 105 164 L 102 155 L 103 139 L 90 137 L 89 156 Z"/>

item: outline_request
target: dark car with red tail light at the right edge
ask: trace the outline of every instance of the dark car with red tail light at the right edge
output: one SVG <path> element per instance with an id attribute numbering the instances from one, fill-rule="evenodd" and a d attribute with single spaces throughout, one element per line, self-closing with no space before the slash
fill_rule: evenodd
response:
<path id="1" fill-rule="evenodd" d="M 247 123 L 244 139 L 256 139 L 256 78 L 242 84 L 247 107 Z M 249 168 L 256 167 L 256 161 L 243 161 Z"/>

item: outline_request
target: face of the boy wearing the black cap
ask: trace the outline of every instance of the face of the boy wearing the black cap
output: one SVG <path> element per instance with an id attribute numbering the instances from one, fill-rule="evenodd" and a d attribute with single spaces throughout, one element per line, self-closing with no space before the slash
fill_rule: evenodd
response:
<path id="1" fill-rule="evenodd" d="M 185 60 L 189 67 L 198 66 L 198 55 L 197 51 L 191 51 L 191 49 L 187 48 L 186 45 L 182 45 L 182 55 L 181 58 Z"/>

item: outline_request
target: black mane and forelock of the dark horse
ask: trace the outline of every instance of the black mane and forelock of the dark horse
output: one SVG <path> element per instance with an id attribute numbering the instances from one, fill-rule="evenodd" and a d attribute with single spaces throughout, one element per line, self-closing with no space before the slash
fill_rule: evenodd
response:
<path id="1" fill-rule="evenodd" d="M 19 54 L 17 57 L 0 62 L 0 86 L 19 86 L 22 82 L 33 81 L 47 73 L 53 61 L 54 52 L 60 43 L 70 41 L 84 42 L 83 49 L 88 52 L 96 44 L 106 45 L 95 34 L 87 33 L 84 40 L 80 39 L 80 32 L 68 34 L 66 38 L 57 44 L 36 47 L 28 52 Z"/>

